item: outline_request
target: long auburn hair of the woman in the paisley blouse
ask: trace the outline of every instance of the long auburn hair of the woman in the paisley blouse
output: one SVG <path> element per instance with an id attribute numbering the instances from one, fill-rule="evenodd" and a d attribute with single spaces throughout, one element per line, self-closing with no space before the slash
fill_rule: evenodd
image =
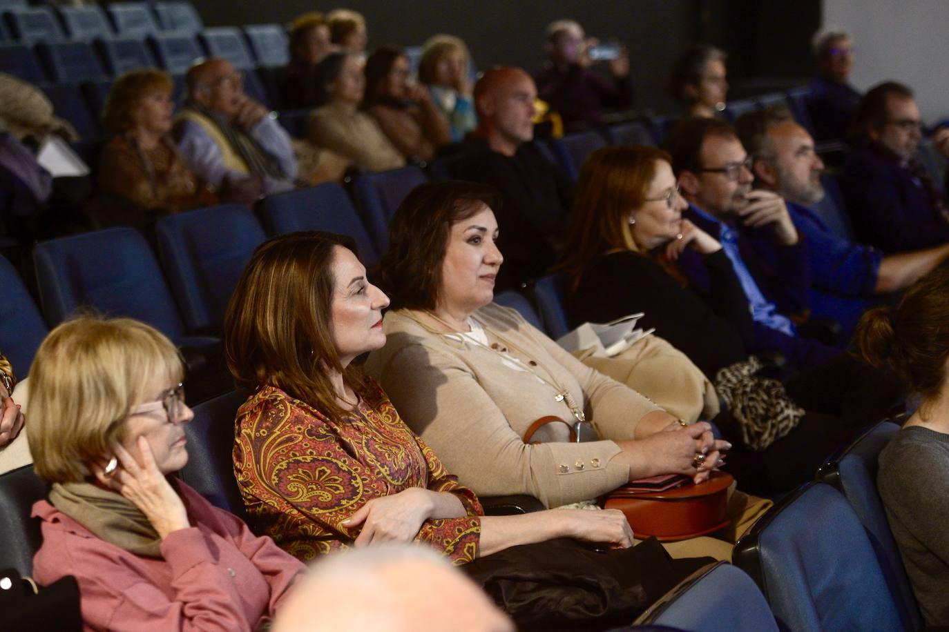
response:
<path id="1" fill-rule="evenodd" d="M 358 256 L 350 237 L 306 231 L 261 244 L 241 274 L 224 316 L 224 353 L 237 385 L 271 386 L 306 402 L 331 419 L 337 404 L 327 369 L 364 394 L 363 376 L 343 367 L 332 338 L 334 248 Z"/>

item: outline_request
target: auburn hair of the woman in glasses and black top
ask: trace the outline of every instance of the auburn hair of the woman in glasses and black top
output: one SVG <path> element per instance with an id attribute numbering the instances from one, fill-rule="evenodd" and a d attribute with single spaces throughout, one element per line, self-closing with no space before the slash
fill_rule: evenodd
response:
<path id="1" fill-rule="evenodd" d="M 589 266 L 614 249 L 640 252 L 629 227 L 629 214 L 645 203 L 659 161 L 668 153 L 644 145 L 604 147 L 591 153 L 580 170 L 567 232 L 568 253 L 558 266 L 576 289 Z"/>

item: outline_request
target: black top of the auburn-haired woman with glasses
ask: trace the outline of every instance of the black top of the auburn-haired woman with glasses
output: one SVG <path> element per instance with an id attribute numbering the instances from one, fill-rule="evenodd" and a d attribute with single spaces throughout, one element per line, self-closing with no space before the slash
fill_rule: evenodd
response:
<path id="1" fill-rule="evenodd" d="M 711 282 L 709 295 L 683 287 L 662 266 L 635 252 L 600 257 L 568 298 L 571 324 L 608 322 L 644 312 L 639 327 L 689 356 L 714 378 L 716 372 L 747 358 L 753 333 L 748 299 L 724 250 L 702 258 Z"/>

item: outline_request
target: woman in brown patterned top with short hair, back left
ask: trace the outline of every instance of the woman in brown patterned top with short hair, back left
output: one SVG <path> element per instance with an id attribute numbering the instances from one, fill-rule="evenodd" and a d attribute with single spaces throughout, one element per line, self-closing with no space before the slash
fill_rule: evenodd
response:
<path id="1" fill-rule="evenodd" d="M 217 203 L 171 138 L 172 81 L 162 70 L 122 75 L 105 100 L 102 124 L 112 135 L 99 160 L 99 187 L 140 208 L 177 213 Z"/>

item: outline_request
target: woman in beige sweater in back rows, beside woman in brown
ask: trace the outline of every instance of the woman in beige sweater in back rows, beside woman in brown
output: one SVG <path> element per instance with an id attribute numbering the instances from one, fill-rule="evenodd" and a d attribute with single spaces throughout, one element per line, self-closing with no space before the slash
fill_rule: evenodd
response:
<path id="1" fill-rule="evenodd" d="M 307 140 L 340 153 L 367 172 L 405 166 L 405 158 L 373 117 L 359 110 L 365 91 L 363 61 L 351 53 L 330 53 L 316 66 L 319 109 L 309 117 Z"/>

